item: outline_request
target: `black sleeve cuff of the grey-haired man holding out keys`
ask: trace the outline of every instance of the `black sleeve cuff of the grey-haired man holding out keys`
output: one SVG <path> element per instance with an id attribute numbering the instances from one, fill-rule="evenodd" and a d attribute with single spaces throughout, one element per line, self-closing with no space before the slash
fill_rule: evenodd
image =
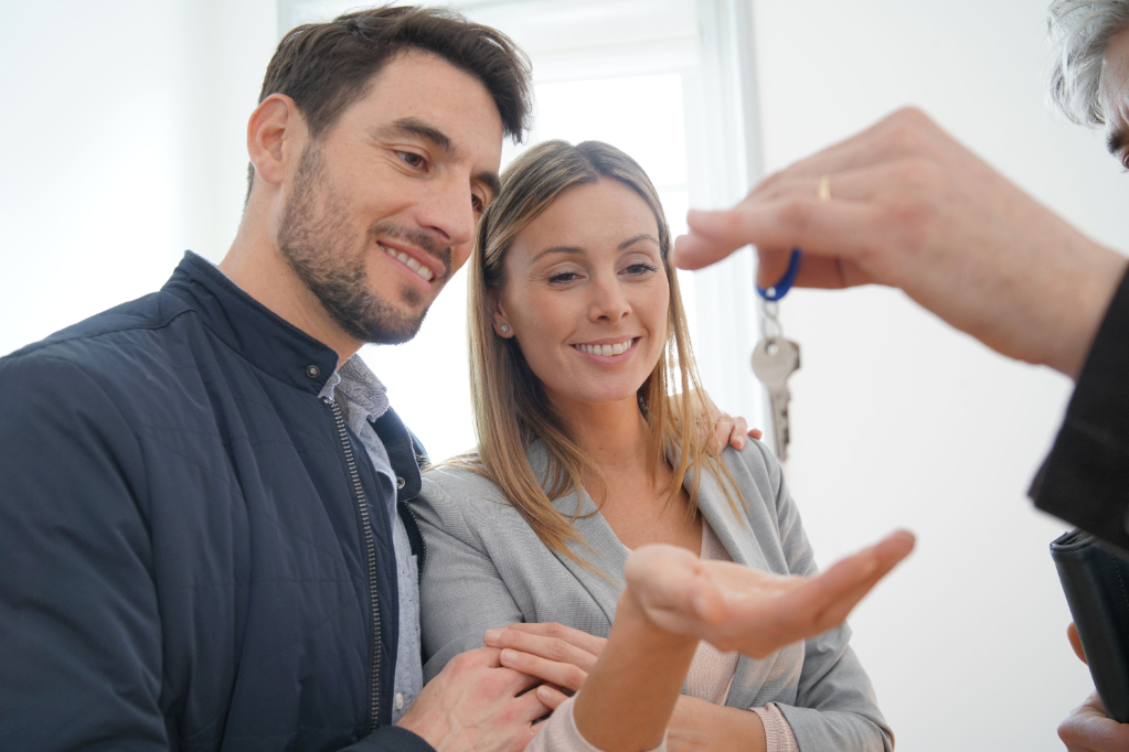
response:
<path id="1" fill-rule="evenodd" d="M 1029 494 L 1044 512 L 1129 551 L 1129 272 Z"/>

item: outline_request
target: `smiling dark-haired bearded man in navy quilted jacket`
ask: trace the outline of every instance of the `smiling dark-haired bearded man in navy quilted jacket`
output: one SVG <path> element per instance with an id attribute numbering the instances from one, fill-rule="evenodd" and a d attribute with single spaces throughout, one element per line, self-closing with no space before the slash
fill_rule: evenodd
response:
<path id="1" fill-rule="evenodd" d="M 449 11 L 292 30 L 219 268 L 0 359 L 5 750 L 516 751 L 592 665 L 523 625 L 420 688 L 422 448 L 355 356 L 466 260 L 528 73 Z"/>

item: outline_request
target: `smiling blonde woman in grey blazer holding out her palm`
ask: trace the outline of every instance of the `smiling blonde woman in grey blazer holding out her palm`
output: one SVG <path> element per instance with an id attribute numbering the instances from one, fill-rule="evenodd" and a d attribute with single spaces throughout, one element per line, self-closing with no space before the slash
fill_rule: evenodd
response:
<path id="1" fill-rule="evenodd" d="M 560 622 L 612 634 L 598 662 L 572 658 L 592 675 L 562 707 L 602 749 L 647 749 L 669 718 L 672 742 L 711 749 L 890 750 L 848 628 L 812 635 L 912 539 L 788 578 L 815 565 L 779 465 L 759 442 L 718 453 L 704 440 L 669 247 L 654 186 L 612 147 L 548 142 L 506 171 L 469 282 L 479 448 L 427 474 L 418 506 L 425 676 L 487 630 L 526 648 L 522 629 L 497 630 Z M 802 610 L 837 577 L 846 610 L 806 621 L 758 621 L 747 593 L 735 605 L 752 585 L 800 593 Z"/>

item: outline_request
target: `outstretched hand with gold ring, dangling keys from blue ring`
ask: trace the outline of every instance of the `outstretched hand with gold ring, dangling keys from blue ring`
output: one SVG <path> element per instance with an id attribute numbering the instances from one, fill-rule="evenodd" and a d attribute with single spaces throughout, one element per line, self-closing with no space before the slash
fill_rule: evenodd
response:
<path id="1" fill-rule="evenodd" d="M 683 268 L 753 244 L 768 285 L 800 247 L 796 284 L 901 287 L 989 347 L 1074 378 L 1126 266 L 914 109 L 686 221 Z"/>

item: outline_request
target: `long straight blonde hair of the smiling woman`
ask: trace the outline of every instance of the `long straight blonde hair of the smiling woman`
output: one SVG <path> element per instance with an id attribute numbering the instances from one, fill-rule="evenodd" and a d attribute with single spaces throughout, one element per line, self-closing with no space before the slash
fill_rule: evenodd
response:
<path id="1" fill-rule="evenodd" d="M 561 192 L 601 178 L 619 180 L 632 188 L 655 214 L 669 283 L 665 351 L 638 391 L 639 406 L 650 428 L 648 470 L 654 479 L 667 457 L 674 458 L 674 474 L 666 488 L 673 502 L 691 467 L 707 469 L 725 477 L 723 487 L 730 504 L 734 503 L 729 493 L 733 479 L 718 451 L 711 448 L 714 431 L 707 424 L 712 421 L 693 364 L 677 275 L 665 263 L 671 250 L 671 231 L 655 186 L 633 159 L 606 143 L 585 141 L 574 147 L 566 141 L 546 141 L 506 169 L 501 191 L 479 224 L 467 282 L 471 399 L 479 446 L 476 452 L 456 458 L 453 463 L 489 478 L 550 550 L 577 561 L 579 558 L 566 543 L 579 539 L 571 521 L 580 512 L 581 479 L 598 483 L 592 494 L 597 505 L 606 497 L 607 481 L 554 412 L 517 339 L 495 333 L 490 293 L 499 294 L 506 284 L 506 253 L 514 238 Z M 677 389 L 672 389 L 675 386 Z M 548 450 L 549 470 L 544 478 L 536 477 L 526 459 L 526 450 L 536 439 Z M 697 510 L 700 480 L 701 472 L 695 472 L 690 513 Z M 552 499 L 569 493 L 577 495 L 577 511 L 571 517 L 552 504 Z"/>

